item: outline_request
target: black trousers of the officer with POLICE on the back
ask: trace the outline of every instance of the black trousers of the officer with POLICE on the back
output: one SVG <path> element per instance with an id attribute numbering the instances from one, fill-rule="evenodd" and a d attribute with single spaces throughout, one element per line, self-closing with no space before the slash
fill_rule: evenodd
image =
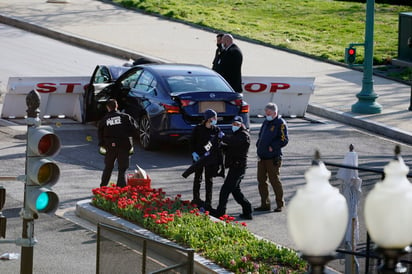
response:
<path id="1" fill-rule="evenodd" d="M 107 186 L 109 183 L 112 171 L 114 168 L 114 163 L 117 160 L 117 186 L 126 186 L 125 173 L 129 168 L 129 150 L 131 148 L 130 144 L 118 144 L 114 147 L 109 146 L 106 148 L 106 155 L 104 158 L 104 170 L 102 174 L 102 180 L 100 186 Z"/>

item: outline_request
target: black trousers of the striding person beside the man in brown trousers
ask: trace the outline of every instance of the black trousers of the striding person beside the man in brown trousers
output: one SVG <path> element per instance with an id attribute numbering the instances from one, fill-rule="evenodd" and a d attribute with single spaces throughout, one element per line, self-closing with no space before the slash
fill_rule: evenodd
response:
<path id="1" fill-rule="evenodd" d="M 217 206 L 217 214 L 224 215 L 226 213 L 226 205 L 229 195 L 232 194 L 235 201 L 242 206 L 243 214 L 252 213 L 252 205 L 243 195 L 240 190 L 240 182 L 245 175 L 245 167 L 230 167 L 226 175 L 219 194 L 219 205 Z"/>

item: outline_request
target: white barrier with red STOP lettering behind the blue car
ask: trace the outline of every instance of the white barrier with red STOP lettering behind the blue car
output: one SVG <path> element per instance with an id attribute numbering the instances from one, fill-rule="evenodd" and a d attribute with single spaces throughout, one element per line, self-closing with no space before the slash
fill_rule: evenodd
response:
<path id="1" fill-rule="evenodd" d="M 2 118 L 24 118 L 26 96 L 36 89 L 41 97 L 42 117 L 64 117 L 82 122 L 83 94 L 90 76 L 10 77 L 3 101 Z M 313 77 L 243 77 L 243 97 L 250 115 L 264 113 L 275 102 L 284 117 L 303 117 L 314 92 Z"/>

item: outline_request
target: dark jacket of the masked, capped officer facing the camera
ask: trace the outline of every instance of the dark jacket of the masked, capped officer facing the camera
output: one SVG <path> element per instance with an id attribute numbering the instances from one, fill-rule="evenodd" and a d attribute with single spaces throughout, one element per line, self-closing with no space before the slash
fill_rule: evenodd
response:
<path id="1" fill-rule="evenodd" d="M 218 164 L 220 153 L 220 128 L 211 126 L 207 128 L 204 123 L 198 124 L 193 128 L 191 137 L 192 152 L 196 152 L 200 157 L 203 157 L 206 152 L 209 152 L 205 165 Z"/>

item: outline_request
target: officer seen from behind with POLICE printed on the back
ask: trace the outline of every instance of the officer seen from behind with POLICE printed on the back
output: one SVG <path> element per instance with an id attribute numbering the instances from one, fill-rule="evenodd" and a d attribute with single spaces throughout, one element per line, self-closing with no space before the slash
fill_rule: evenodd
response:
<path id="1" fill-rule="evenodd" d="M 108 113 L 98 125 L 99 146 L 106 150 L 104 170 L 100 186 L 107 186 L 117 159 L 117 186 L 126 186 L 125 173 L 129 168 L 129 152 L 133 148 L 133 136 L 138 134 L 135 120 L 117 110 L 115 99 L 110 99 L 106 108 Z"/>

